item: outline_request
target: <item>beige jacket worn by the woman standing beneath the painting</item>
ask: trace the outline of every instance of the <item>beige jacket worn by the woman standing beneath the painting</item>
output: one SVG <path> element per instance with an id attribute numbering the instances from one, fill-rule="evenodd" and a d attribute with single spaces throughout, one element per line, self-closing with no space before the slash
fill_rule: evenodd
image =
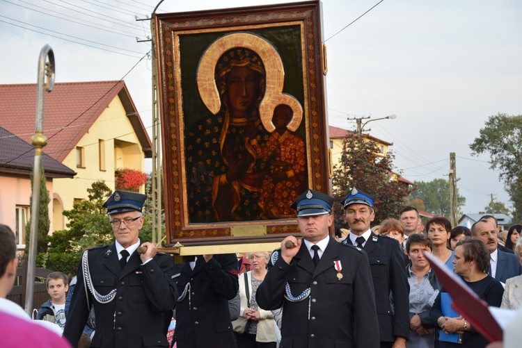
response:
<path id="1" fill-rule="evenodd" d="M 241 307 L 239 308 L 239 318 L 234 320 L 234 327 L 242 326 L 246 320 L 243 312 L 247 308 L 245 280 L 244 276 L 248 276 L 248 285 L 250 286 L 248 294 L 250 295 L 250 303 L 252 303 L 252 271 L 244 272 L 239 275 L 239 297 L 241 298 Z M 255 335 L 256 342 L 277 342 L 276 328 L 274 326 L 274 314 L 271 310 L 259 308 L 260 320 L 258 322 L 258 333 Z"/>

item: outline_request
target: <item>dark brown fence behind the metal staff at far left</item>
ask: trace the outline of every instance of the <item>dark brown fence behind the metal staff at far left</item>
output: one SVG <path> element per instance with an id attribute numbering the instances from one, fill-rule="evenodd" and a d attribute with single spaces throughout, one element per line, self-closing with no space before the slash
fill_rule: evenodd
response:
<path id="1" fill-rule="evenodd" d="M 47 278 L 47 276 L 53 271 L 46 270 L 45 268 L 35 268 L 34 275 L 35 277 Z M 27 279 L 27 260 L 23 260 L 20 263 L 19 267 L 16 270 L 17 281 L 15 281 L 15 285 L 9 294 L 7 295 L 7 299 L 19 304 L 20 306 L 25 306 L 26 300 L 26 284 L 29 279 Z M 49 299 L 49 294 L 47 293 L 47 288 L 44 283 L 35 283 L 34 285 L 34 295 L 33 295 L 33 308 L 40 308 L 40 306 Z"/>

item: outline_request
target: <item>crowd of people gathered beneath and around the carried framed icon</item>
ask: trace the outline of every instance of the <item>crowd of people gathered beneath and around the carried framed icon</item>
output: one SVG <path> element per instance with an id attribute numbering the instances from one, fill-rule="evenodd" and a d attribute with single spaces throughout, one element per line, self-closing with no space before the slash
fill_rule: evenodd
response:
<path id="1" fill-rule="evenodd" d="M 452 229 L 440 216 L 422 224 L 418 210 L 406 206 L 376 231 L 370 228 L 375 197 L 353 188 L 342 201 L 345 229 L 334 238 L 333 198 L 309 189 L 290 206 L 301 238 L 285 238 L 271 254 L 200 255 L 174 264 L 139 240 L 145 198 L 115 191 L 104 207 L 116 241 L 84 251 L 71 283 L 61 272 L 49 274 L 50 299 L 37 322 L 54 329 L 34 326 L 16 306 L 0 309 L 3 322 L 14 320 L 13 313 L 22 317 L 19 330 L 49 331 L 38 340 L 25 335 L 13 342 L 45 347 L 40 338 L 47 337 L 55 347 L 486 347 L 487 339 L 452 310 L 426 254 L 489 306 L 522 304 L 522 226 L 509 229 L 501 249 L 491 215 L 471 229 Z M 5 304 L 17 259 L 13 232 L 0 227 Z M 3 337 L 6 327 L 0 326 Z"/>

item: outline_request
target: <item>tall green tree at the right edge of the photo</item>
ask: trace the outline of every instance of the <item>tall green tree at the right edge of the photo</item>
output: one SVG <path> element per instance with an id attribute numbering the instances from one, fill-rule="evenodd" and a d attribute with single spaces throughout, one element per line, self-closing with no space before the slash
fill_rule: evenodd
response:
<path id="1" fill-rule="evenodd" d="M 505 113 L 490 116 L 480 136 L 469 145 L 472 155 L 489 153 L 491 169 L 499 170 L 514 211 L 514 219 L 522 215 L 522 115 Z"/>

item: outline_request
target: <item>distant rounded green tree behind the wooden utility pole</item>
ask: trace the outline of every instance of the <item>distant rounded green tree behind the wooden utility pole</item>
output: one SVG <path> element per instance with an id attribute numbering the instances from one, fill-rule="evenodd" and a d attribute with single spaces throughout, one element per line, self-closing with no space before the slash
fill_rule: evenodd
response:
<path id="1" fill-rule="evenodd" d="M 410 203 L 420 199 L 428 213 L 450 217 L 450 183 L 445 179 L 432 181 L 416 181 L 417 190 L 410 194 Z M 466 197 L 457 191 L 457 209 L 461 214 L 461 207 L 466 204 Z"/>

